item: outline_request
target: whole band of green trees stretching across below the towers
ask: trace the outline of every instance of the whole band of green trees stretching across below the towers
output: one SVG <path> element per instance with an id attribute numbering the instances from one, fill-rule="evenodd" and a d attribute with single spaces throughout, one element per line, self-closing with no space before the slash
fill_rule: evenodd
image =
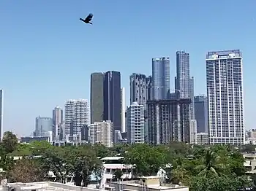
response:
<path id="1" fill-rule="evenodd" d="M 156 175 L 162 168 L 166 183 L 186 185 L 190 190 L 232 191 L 250 184 L 256 190 L 256 176 L 251 177 L 252 181 L 245 176 L 244 157 L 240 153 L 241 148 L 247 151 L 255 149 L 251 146 L 236 149 L 230 145 L 205 147 L 171 142 L 158 146 L 118 144 L 112 148 L 102 144 L 53 147 L 47 141 L 18 144 L 17 138 L 10 132 L 5 133 L 3 141 L 0 144 L 0 168 L 4 168 L 4 176 L 12 181 L 45 180 L 48 179 L 48 171 L 52 171 L 56 182 L 65 183 L 67 176 L 74 175 L 75 184 L 86 187 L 91 174 L 97 174 L 98 180 L 101 179 L 102 163 L 98 157 L 119 155 L 124 156 L 127 165 L 133 165 L 134 176 Z M 10 157 L 31 155 L 42 157 L 33 159 L 34 162 L 22 159 L 18 165 Z M 116 170 L 113 181 L 121 179 L 122 174 L 122 171 Z"/>

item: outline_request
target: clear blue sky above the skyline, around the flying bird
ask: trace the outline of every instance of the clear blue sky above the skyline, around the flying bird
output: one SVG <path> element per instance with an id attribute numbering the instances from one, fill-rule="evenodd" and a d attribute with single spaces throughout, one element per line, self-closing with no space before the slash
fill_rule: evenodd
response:
<path id="1" fill-rule="evenodd" d="M 255 127 L 256 1 L 0 1 L 0 88 L 4 130 L 29 135 L 35 117 L 51 117 L 69 98 L 89 99 L 90 74 L 151 74 L 151 58 L 190 53 L 195 95 L 206 93 L 206 52 L 240 49 L 246 128 Z M 79 21 L 89 12 L 94 25 Z"/>

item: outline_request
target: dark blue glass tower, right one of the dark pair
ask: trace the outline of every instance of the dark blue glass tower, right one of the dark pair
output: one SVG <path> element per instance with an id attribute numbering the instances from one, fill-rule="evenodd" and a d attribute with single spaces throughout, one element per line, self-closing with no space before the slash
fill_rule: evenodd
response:
<path id="1" fill-rule="evenodd" d="M 107 71 L 104 80 L 104 120 L 113 122 L 114 130 L 121 131 L 121 74 Z"/>

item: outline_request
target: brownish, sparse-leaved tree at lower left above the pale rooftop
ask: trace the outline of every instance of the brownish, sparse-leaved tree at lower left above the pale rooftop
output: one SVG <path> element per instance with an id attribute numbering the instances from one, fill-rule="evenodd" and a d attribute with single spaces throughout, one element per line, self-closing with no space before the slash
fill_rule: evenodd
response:
<path id="1" fill-rule="evenodd" d="M 42 182 L 48 171 L 43 171 L 37 160 L 23 158 L 17 160 L 10 170 L 10 182 Z"/>

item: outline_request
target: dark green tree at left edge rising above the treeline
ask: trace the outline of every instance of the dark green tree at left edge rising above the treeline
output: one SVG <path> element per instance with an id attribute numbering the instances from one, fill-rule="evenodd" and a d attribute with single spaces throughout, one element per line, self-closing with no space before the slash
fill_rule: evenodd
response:
<path id="1" fill-rule="evenodd" d="M 18 146 L 17 136 L 15 136 L 15 134 L 13 134 L 10 131 L 6 131 L 6 132 L 4 132 L 4 136 L 1 141 L 1 144 L 3 145 L 3 147 L 7 153 L 11 153 Z"/>

